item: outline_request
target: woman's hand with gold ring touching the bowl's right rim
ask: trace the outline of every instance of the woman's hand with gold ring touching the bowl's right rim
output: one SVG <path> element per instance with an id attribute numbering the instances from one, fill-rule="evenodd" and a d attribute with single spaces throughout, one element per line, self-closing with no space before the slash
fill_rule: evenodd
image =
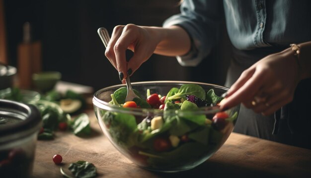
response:
<path id="1" fill-rule="evenodd" d="M 293 100 L 301 80 L 300 65 L 291 48 L 269 55 L 245 70 L 228 91 L 221 109 L 242 103 L 270 115 Z"/>

